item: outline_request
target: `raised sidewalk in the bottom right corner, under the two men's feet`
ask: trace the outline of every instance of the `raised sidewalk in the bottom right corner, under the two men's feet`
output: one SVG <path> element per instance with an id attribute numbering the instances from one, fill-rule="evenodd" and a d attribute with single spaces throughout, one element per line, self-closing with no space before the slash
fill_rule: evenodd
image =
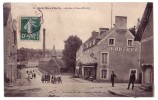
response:
<path id="1" fill-rule="evenodd" d="M 132 90 L 131 88 L 127 90 L 127 85 L 128 84 L 125 83 L 116 83 L 115 87 L 111 87 L 110 89 L 108 89 L 108 92 L 113 95 L 122 97 L 153 97 L 152 92 L 146 92 L 144 90 L 141 90 L 140 84 L 136 84 L 134 90 Z"/>

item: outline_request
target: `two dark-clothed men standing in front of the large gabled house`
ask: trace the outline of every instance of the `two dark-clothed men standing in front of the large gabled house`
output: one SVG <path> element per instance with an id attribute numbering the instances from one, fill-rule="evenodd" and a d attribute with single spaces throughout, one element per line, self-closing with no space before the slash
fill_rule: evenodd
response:
<path id="1" fill-rule="evenodd" d="M 111 74 L 112 87 L 114 87 L 114 81 L 115 81 L 116 77 L 117 76 L 115 75 L 114 71 L 112 71 L 112 74 Z M 135 73 L 133 72 L 133 73 L 131 73 L 131 75 L 129 77 L 128 87 L 127 87 L 128 90 L 129 90 L 131 84 L 132 84 L 132 90 L 134 89 L 135 80 L 136 80 L 136 76 L 135 76 Z"/>

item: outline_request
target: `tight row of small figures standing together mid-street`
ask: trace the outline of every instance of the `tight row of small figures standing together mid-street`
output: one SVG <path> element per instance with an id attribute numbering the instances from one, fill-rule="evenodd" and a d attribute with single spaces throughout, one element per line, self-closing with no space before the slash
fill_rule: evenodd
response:
<path id="1" fill-rule="evenodd" d="M 42 83 L 62 83 L 61 75 L 42 74 Z"/>

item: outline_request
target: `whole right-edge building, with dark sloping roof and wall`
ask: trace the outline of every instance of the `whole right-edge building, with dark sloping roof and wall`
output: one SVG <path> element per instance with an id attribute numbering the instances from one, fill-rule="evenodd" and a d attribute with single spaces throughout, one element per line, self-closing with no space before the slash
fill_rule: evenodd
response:
<path id="1" fill-rule="evenodd" d="M 142 69 L 142 85 L 153 88 L 153 3 L 147 3 L 143 17 L 137 29 L 135 41 L 141 43 L 140 66 Z"/>

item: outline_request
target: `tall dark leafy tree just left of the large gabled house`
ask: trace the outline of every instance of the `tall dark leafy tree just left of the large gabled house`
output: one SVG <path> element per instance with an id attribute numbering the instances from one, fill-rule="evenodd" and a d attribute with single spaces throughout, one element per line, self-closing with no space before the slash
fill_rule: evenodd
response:
<path id="1" fill-rule="evenodd" d="M 75 72 L 76 65 L 76 52 L 82 44 L 82 40 L 77 36 L 69 36 L 67 40 L 64 41 L 65 47 L 63 50 L 62 59 L 65 61 L 67 70 L 69 72 Z"/>

